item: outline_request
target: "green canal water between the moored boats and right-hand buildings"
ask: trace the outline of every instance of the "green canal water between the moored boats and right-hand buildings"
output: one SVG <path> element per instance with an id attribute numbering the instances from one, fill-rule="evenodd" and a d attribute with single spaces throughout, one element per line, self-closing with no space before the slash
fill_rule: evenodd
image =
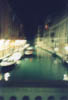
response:
<path id="1" fill-rule="evenodd" d="M 5 73 L 10 74 L 7 81 L 4 79 Z M 41 48 L 36 48 L 36 53 L 32 56 L 24 56 L 15 66 L 0 69 L 0 85 L 21 84 L 24 81 L 67 82 L 67 77 L 68 66 L 59 57 Z"/>

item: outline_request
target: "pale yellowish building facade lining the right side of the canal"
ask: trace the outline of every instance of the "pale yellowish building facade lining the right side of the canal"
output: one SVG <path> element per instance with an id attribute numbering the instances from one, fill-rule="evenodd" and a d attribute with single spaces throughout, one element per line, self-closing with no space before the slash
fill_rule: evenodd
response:
<path id="1" fill-rule="evenodd" d="M 52 18 L 53 17 L 53 18 Z M 68 14 L 66 12 L 60 15 L 52 16 L 49 21 L 45 21 L 43 37 L 36 39 L 36 44 L 45 49 L 57 52 L 61 55 L 68 54 Z M 55 49 L 56 48 L 56 49 Z"/>

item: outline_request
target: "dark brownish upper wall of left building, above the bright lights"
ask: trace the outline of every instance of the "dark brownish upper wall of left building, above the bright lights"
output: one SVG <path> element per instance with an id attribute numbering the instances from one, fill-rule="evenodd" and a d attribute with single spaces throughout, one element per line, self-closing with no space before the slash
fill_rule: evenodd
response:
<path id="1" fill-rule="evenodd" d="M 0 0 L 0 38 L 18 39 L 20 24 L 19 18 L 14 14 L 8 0 Z"/>

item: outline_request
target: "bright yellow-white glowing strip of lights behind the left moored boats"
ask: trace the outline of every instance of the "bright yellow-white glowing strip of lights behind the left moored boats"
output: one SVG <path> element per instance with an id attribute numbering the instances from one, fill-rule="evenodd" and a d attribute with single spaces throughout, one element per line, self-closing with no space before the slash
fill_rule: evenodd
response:
<path id="1" fill-rule="evenodd" d="M 29 44 L 26 45 L 27 40 L 0 40 L 0 57 L 5 57 L 8 54 L 12 54 L 16 51 L 22 51 L 29 47 Z M 20 58 L 20 55 L 13 56 L 13 60 L 17 61 Z"/>

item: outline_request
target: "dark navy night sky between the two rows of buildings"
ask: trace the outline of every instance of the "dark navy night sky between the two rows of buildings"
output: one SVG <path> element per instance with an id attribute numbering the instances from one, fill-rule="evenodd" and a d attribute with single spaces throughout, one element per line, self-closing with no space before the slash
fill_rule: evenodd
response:
<path id="1" fill-rule="evenodd" d="M 43 25 L 48 15 L 64 10 L 67 0 L 10 0 L 10 4 L 25 33 L 36 34 L 37 26 Z"/>

